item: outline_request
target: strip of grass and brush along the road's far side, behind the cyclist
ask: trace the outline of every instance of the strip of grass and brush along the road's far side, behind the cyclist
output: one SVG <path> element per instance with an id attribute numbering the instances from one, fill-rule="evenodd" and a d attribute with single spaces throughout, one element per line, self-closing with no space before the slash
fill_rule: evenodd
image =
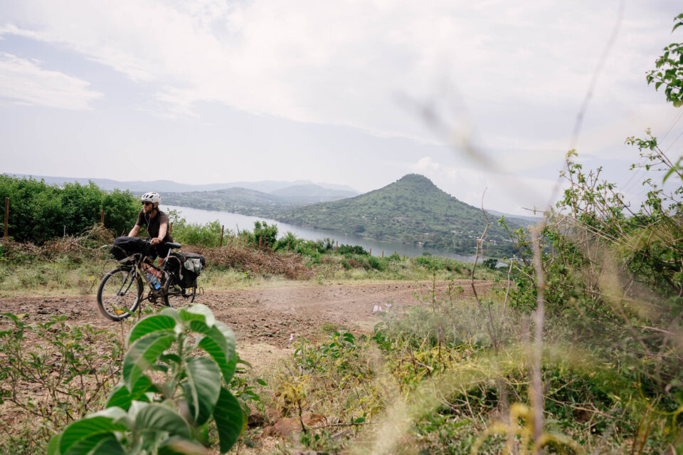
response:
<path id="1" fill-rule="evenodd" d="M 331 239 L 309 241 L 288 232 L 277 239 L 277 226 L 256 222 L 253 231 L 224 233 L 221 226 L 187 223 L 178 214 L 173 235 L 182 251 L 207 258 L 201 286 L 223 289 L 268 281 L 412 280 L 468 278 L 472 264 L 440 256 L 407 257 L 396 253 L 371 256 L 361 246 L 335 245 Z M 134 222 L 134 221 L 133 221 Z M 95 224 L 79 235 L 58 236 L 41 245 L 0 241 L 0 296 L 91 294 L 107 271 L 116 266 L 107 245 L 115 233 Z M 495 264 L 480 263 L 477 278 L 504 276 Z"/>

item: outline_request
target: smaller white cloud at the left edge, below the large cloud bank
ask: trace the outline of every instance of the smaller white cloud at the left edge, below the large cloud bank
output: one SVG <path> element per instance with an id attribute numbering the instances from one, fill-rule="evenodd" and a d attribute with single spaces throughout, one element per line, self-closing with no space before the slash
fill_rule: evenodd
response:
<path id="1" fill-rule="evenodd" d="M 88 85 L 85 80 L 43 69 L 39 62 L 0 52 L 0 98 L 11 103 L 89 109 L 102 94 L 89 90 Z"/>

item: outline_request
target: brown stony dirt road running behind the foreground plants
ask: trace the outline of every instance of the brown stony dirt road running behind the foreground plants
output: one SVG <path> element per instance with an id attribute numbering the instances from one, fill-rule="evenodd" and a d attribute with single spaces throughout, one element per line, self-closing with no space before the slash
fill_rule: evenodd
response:
<path id="1" fill-rule="evenodd" d="M 469 281 L 456 283 L 471 294 Z M 482 291 L 491 283 L 477 283 Z M 235 291 L 208 291 L 196 299 L 207 305 L 218 320 L 235 331 L 238 349 L 253 344 L 285 348 L 293 335 L 316 339 L 322 325 L 337 325 L 369 332 L 379 322 L 377 305 L 386 310 L 401 310 L 415 305 L 414 293 L 428 293 L 431 283 L 361 283 L 327 286 L 302 286 L 293 282 L 277 288 L 249 288 Z M 445 283 L 438 285 L 443 292 Z M 67 315 L 68 323 L 91 324 L 117 330 L 119 323 L 106 320 L 97 310 L 94 296 L 18 297 L 0 299 L 0 312 L 28 313 L 28 322 L 45 322 L 51 315 Z"/>

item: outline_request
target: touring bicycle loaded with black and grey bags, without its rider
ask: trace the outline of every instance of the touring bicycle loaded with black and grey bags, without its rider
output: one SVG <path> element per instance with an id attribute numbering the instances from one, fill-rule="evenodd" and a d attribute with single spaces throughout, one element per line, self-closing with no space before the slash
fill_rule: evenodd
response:
<path id="1" fill-rule="evenodd" d="M 97 305 L 111 320 L 123 320 L 141 308 L 144 300 L 179 307 L 194 302 L 203 293 L 197 277 L 206 259 L 196 253 L 171 253 L 180 244 L 166 242 L 169 253 L 164 265 L 152 264 L 152 245 L 138 237 L 119 237 L 110 247 L 120 266 L 108 272 L 97 288 Z M 147 296 L 144 296 L 147 288 Z"/>

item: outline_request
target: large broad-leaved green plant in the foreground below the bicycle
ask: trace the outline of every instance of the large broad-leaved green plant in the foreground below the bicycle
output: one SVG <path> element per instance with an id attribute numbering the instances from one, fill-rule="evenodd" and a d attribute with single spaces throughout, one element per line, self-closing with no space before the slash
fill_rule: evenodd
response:
<path id="1" fill-rule="evenodd" d="M 53 437 L 48 455 L 208 453 L 211 420 L 221 452 L 235 444 L 245 422 L 226 388 L 238 362 L 235 335 L 211 310 L 166 308 L 139 321 L 126 345 L 106 409 Z"/>

